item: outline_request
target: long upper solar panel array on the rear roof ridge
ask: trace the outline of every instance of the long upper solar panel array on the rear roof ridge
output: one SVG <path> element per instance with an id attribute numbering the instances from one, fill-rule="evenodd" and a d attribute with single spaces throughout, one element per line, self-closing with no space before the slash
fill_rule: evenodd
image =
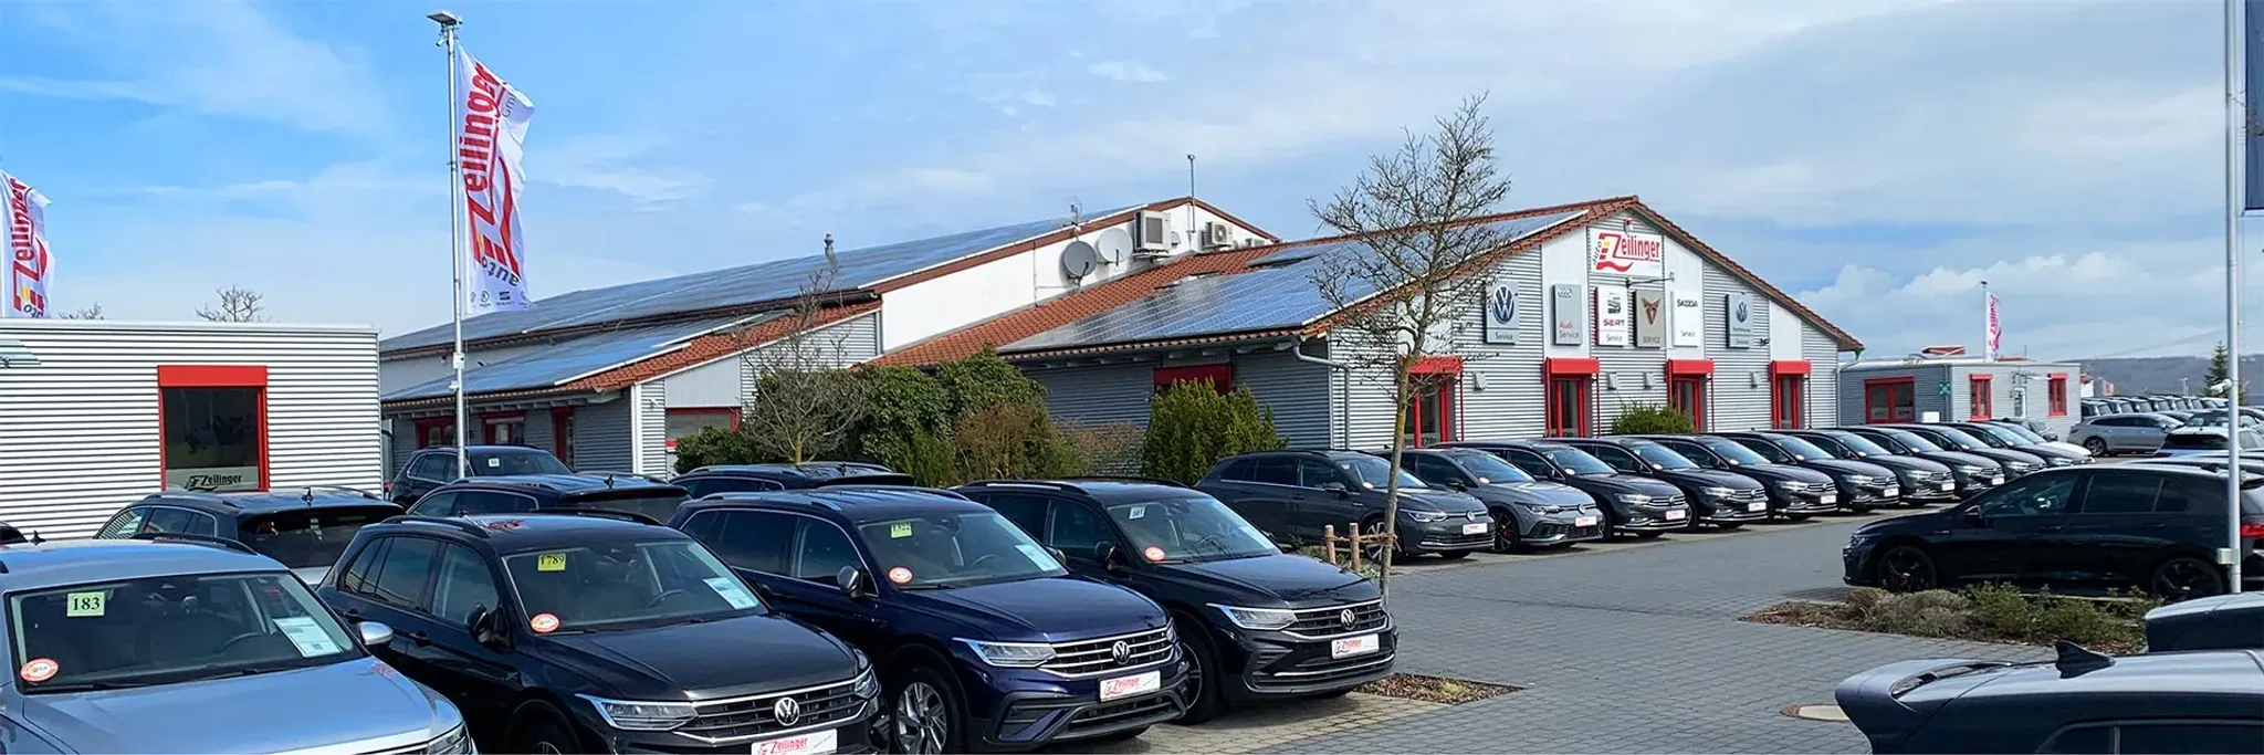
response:
<path id="1" fill-rule="evenodd" d="M 1125 209 L 1105 211 L 1091 218 L 1107 218 Z M 881 247 L 838 252 L 840 272 L 833 290 L 854 290 L 908 272 L 942 265 L 962 256 L 996 249 L 1017 240 L 1037 238 L 1060 229 L 1062 220 L 1032 220 L 996 229 L 964 231 L 921 240 L 892 243 Z M 824 270 L 824 254 L 765 261 L 743 268 L 679 274 L 657 281 L 589 288 L 539 299 L 523 311 L 503 311 L 464 320 L 464 340 L 500 338 L 564 329 L 577 324 L 602 324 L 629 317 L 652 317 L 681 311 L 736 306 L 772 299 L 790 299 Z M 448 324 L 387 338 L 380 349 L 435 347 L 453 340 Z"/>

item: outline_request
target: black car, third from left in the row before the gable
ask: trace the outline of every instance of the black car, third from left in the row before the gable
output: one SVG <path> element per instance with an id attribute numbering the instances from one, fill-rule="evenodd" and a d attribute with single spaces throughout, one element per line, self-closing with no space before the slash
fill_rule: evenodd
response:
<path id="1" fill-rule="evenodd" d="M 1494 453 L 1537 481 L 1580 487 L 1603 510 L 1607 535 L 1660 537 L 1691 526 L 1691 506 L 1680 487 L 1619 474 L 1587 451 L 1555 440 L 1458 440 L 1440 447 Z"/>

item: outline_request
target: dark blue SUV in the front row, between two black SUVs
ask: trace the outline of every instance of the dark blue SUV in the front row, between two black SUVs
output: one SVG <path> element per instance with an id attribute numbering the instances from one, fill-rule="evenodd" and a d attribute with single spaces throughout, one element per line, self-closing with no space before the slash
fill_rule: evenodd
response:
<path id="1" fill-rule="evenodd" d="M 1186 658 L 1164 608 L 1071 576 L 1055 551 L 960 494 L 727 492 L 684 503 L 670 526 L 786 614 L 872 653 L 901 753 L 1127 739 L 1186 707 Z"/>

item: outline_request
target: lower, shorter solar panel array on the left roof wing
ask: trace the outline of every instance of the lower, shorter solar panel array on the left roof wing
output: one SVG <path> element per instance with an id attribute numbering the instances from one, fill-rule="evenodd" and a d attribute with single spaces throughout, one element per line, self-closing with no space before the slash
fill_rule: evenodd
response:
<path id="1" fill-rule="evenodd" d="M 779 317 L 779 315 L 783 315 L 783 313 L 770 313 L 770 315 L 749 320 L 747 324 L 772 320 L 772 317 Z M 577 379 L 577 376 L 584 376 L 584 374 L 591 374 L 591 372 L 600 372 L 600 370 L 607 370 L 607 367 L 616 367 L 616 365 L 625 365 L 625 363 L 652 356 L 652 354 L 657 354 L 657 351 L 661 351 L 661 349 L 666 349 L 670 345 L 677 345 L 681 340 L 691 340 L 693 336 L 702 336 L 702 333 L 729 326 L 729 324 L 734 324 L 738 320 L 743 320 L 743 317 L 706 317 L 706 320 L 691 320 L 691 322 L 677 322 L 677 324 L 654 324 L 654 326 L 643 326 L 643 329 L 604 331 L 604 333 L 591 333 L 591 336 L 582 336 L 582 338 L 561 340 L 561 342 L 548 345 L 543 349 L 534 349 L 532 354 L 523 354 L 523 356 L 507 358 L 507 360 L 500 360 L 500 363 L 466 367 L 464 370 L 464 392 L 466 395 L 478 395 L 478 392 L 496 392 L 496 390 L 555 388 L 555 385 L 559 385 L 564 381 L 571 381 L 571 379 Z M 471 354 L 469 358 L 475 360 L 478 354 Z M 410 385 L 410 388 L 401 388 L 401 390 L 387 392 L 380 399 L 383 401 L 403 401 L 403 399 L 446 397 L 446 395 L 453 395 L 453 390 L 448 390 L 448 381 L 451 379 L 453 376 L 444 376 L 444 379 L 437 379 L 437 381 L 423 381 L 423 383 L 417 383 L 417 385 Z"/>

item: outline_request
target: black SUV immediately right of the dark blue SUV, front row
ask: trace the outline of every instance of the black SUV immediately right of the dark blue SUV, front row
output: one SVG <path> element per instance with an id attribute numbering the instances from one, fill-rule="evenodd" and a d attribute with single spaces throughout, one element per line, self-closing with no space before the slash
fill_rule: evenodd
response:
<path id="1" fill-rule="evenodd" d="M 1340 696 L 1392 673 L 1397 630 L 1358 574 L 1288 555 L 1225 503 L 1164 481 L 983 481 L 958 487 L 1066 553 L 1071 574 L 1170 612 L 1186 716 L 1254 698 Z"/>

